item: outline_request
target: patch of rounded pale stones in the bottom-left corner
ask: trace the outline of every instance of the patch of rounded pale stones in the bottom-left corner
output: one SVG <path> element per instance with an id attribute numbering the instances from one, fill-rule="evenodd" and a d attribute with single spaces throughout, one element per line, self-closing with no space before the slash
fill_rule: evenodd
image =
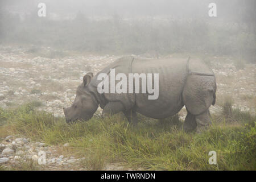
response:
<path id="1" fill-rule="evenodd" d="M 63 147 L 67 147 L 68 143 L 64 144 Z M 14 138 L 13 136 L 8 136 L 0 144 L 0 150 L 2 154 L 0 155 L 0 164 L 5 163 L 6 167 L 21 166 L 24 168 L 25 165 L 33 166 L 34 169 L 38 167 L 38 164 L 42 165 L 44 168 L 59 169 L 71 168 L 74 164 L 77 165 L 79 160 L 74 156 L 63 156 L 57 155 L 57 148 L 54 146 L 48 147 L 42 142 L 30 142 L 29 138 Z M 45 163 L 43 156 L 45 158 Z M 39 162 L 39 163 L 38 163 Z M 26 167 L 26 166 L 25 166 Z M 32 167 L 33 169 L 33 167 Z"/>

